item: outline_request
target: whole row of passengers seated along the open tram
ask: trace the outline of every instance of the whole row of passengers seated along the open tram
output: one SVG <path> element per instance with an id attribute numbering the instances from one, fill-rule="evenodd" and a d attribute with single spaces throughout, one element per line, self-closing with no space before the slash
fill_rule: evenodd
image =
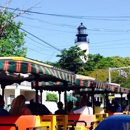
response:
<path id="1" fill-rule="evenodd" d="M 33 99 L 30 100 L 30 104 L 25 106 L 25 97 L 23 95 L 17 96 L 11 104 L 11 109 L 9 112 L 4 109 L 4 98 L 0 95 L 0 116 L 20 116 L 20 115 L 50 115 L 50 114 L 83 114 L 83 115 L 93 115 L 93 108 L 91 102 L 87 101 L 86 98 L 81 98 L 80 101 L 76 101 L 73 104 L 72 101 L 67 103 L 67 110 L 63 109 L 63 103 L 58 102 L 58 110 L 55 113 L 51 113 L 49 109 L 41 103 L 36 103 Z M 75 107 L 74 107 L 75 106 Z M 106 110 L 106 111 L 105 111 Z M 130 111 L 130 106 L 126 106 L 125 111 Z M 104 112 L 122 112 L 122 107 L 118 104 L 116 100 L 112 103 L 107 103 L 106 109 L 100 107 L 100 102 L 95 102 L 95 113 Z"/>

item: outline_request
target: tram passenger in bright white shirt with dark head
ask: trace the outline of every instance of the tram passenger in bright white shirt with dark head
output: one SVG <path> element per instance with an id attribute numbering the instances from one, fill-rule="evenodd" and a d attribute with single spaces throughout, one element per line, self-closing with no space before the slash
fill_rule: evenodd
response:
<path id="1" fill-rule="evenodd" d="M 74 114 L 93 115 L 93 108 L 87 106 L 87 100 L 81 99 L 81 108 L 73 111 Z"/>

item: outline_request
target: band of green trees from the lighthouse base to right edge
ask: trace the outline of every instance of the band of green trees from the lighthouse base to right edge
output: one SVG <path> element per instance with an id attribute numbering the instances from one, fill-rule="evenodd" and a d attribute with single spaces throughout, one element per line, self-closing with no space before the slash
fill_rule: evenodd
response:
<path id="1" fill-rule="evenodd" d="M 64 49 L 60 60 L 55 63 L 57 67 L 67 69 L 77 74 L 82 74 L 96 78 L 100 82 L 108 82 L 108 68 L 119 68 L 130 66 L 130 57 L 103 57 L 100 54 L 89 54 L 88 61 L 83 63 L 80 57 L 85 57 L 83 51 L 77 46 Z M 86 57 L 85 57 L 86 58 Z M 127 78 L 119 75 L 118 70 L 111 72 L 111 82 L 121 84 L 121 86 L 130 88 L 130 74 L 128 69 Z"/>

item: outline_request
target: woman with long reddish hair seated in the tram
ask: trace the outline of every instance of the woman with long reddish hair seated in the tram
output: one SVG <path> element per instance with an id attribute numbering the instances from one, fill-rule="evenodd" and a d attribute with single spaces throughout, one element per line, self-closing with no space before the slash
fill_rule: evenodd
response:
<path id="1" fill-rule="evenodd" d="M 25 107 L 25 97 L 23 95 L 17 96 L 12 104 L 9 114 L 12 116 L 20 116 L 20 115 L 32 115 L 29 108 Z"/>

